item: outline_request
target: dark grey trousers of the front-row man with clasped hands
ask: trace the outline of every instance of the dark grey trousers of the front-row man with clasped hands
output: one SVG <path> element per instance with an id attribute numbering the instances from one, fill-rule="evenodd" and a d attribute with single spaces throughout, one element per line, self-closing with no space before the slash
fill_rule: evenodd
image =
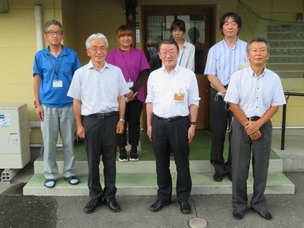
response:
<path id="1" fill-rule="evenodd" d="M 264 196 L 266 187 L 272 123 L 268 121 L 259 130 L 262 136 L 258 140 L 251 140 L 245 128 L 234 119 L 232 124 L 231 151 L 232 151 L 232 205 L 235 210 L 244 211 L 247 208 L 247 179 L 250 166 L 252 147 L 253 169 L 253 196 L 251 206 L 257 211 L 267 210 L 267 201 Z"/>

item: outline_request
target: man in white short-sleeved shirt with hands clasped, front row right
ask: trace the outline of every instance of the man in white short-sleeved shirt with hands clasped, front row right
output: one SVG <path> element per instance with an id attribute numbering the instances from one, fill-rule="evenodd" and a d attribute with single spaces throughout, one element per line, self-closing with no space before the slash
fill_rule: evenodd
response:
<path id="1" fill-rule="evenodd" d="M 268 41 L 254 37 L 246 49 L 250 65 L 232 75 L 224 99 L 234 113 L 231 135 L 233 217 L 242 219 L 247 208 L 246 180 L 252 147 L 254 182 L 250 208 L 270 220 L 272 215 L 264 196 L 272 139 L 270 119 L 286 100 L 279 76 L 265 67 L 270 52 Z"/>

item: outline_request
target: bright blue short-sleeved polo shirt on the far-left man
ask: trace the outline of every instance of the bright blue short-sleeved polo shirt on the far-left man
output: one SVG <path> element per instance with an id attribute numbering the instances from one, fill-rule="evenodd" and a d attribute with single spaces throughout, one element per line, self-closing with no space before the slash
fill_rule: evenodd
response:
<path id="1" fill-rule="evenodd" d="M 36 53 L 33 76 L 39 74 L 41 84 L 39 88 L 40 103 L 48 107 L 68 107 L 73 104 L 73 99 L 66 94 L 71 85 L 75 70 L 81 67 L 77 53 L 62 45 L 62 51 L 56 58 L 49 51 L 49 47 Z M 63 87 L 53 87 L 53 81 L 57 80 L 52 63 L 58 72 L 58 78 Z M 63 59 L 62 59 L 63 57 Z M 60 62 L 61 67 L 59 68 Z M 59 70 L 58 70 L 59 69 Z"/>

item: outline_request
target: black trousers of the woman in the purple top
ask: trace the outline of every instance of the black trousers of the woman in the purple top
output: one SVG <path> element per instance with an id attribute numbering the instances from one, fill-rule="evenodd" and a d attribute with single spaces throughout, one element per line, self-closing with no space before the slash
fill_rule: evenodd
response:
<path id="1" fill-rule="evenodd" d="M 142 101 L 131 100 L 126 103 L 125 111 L 125 131 L 123 134 L 118 134 L 118 145 L 120 147 L 127 145 L 127 125 L 129 125 L 129 144 L 138 146 L 140 133 L 140 115 L 142 111 Z"/>

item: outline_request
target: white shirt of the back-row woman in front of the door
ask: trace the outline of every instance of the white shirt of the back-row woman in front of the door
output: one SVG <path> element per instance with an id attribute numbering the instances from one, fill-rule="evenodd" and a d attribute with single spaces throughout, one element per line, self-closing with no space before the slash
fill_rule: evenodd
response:
<path id="1" fill-rule="evenodd" d="M 193 44 L 185 41 L 182 48 L 179 49 L 179 56 L 177 58 L 177 63 L 194 72 L 195 69 L 195 47 Z"/>

